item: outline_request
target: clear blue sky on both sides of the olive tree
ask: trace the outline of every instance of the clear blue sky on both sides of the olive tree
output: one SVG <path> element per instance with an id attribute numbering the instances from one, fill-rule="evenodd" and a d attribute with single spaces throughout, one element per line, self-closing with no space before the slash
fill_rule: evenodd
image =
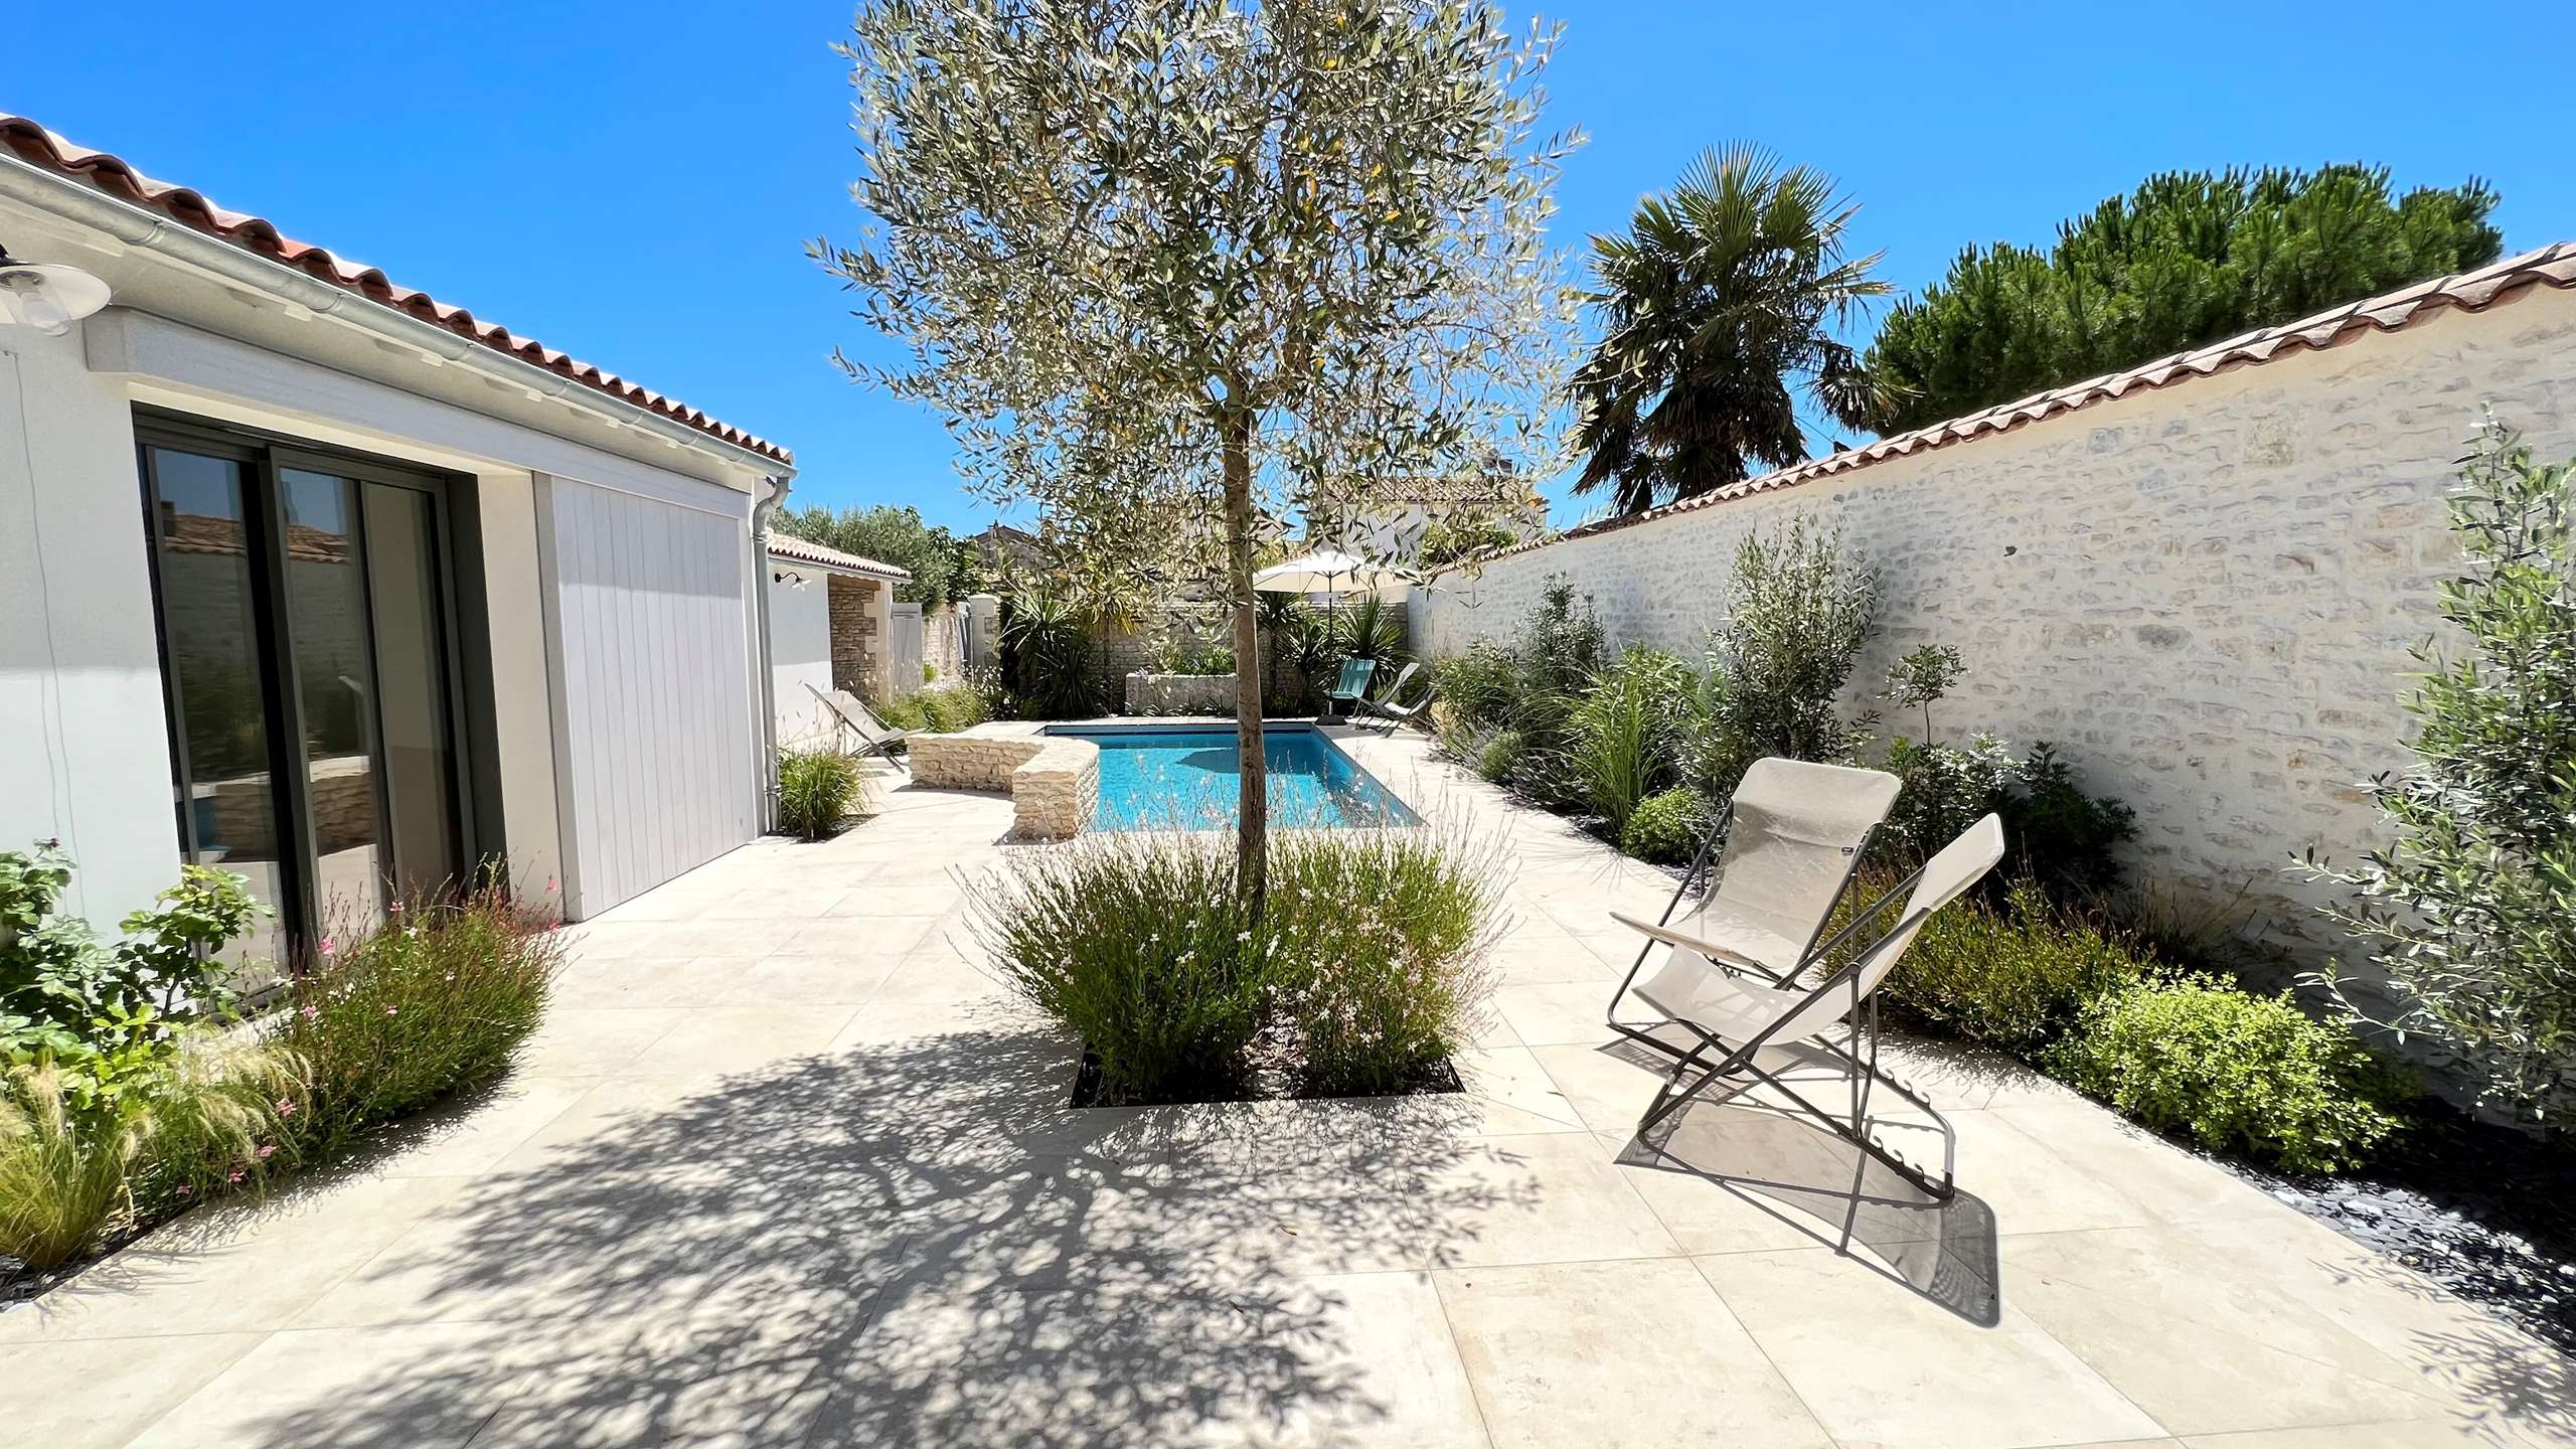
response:
<path id="1" fill-rule="evenodd" d="M 1592 137 L 1558 191 L 1561 242 L 1623 224 L 1726 139 L 1834 173 L 1862 201 L 1860 248 L 1883 248 L 1906 289 L 1965 242 L 2043 242 L 2159 168 L 2478 173 L 2504 191 L 2506 250 L 2576 237 L 2576 10 L 1546 10 L 1566 21 L 1548 121 Z M 783 441 L 799 503 L 912 503 L 974 529 L 989 511 L 958 490 L 938 420 L 827 361 L 871 348 L 801 250 L 858 217 L 827 49 L 845 23 L 840 0 L 327 15 L 126 0 L 10 46 L 0 108 Z"/>

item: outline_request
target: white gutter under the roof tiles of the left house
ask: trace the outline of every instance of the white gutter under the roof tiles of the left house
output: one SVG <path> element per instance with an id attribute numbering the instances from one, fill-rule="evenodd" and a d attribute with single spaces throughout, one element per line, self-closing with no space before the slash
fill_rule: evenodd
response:
<path id="1" fill-rule="evenodd" d="M 729 464 L 757 469 L 762 477 L 775 480 L 783 469 L 791 472 L 788 464 L 781 464 L 768 454 L 755 454 L 752 449 L 690 428 L 677 418 L 654 413 L 652 407 L 626 402 L 623 397 L 600 392 L 598 387 L 572 382 L 559 371 L 536 366 L 497 348 L 487 348 L 440 327 L 438 322 L 422 322 L 410 312 L 384 307 L 381 302 L 371 302 L 345 286 L 332 286 L 286 263 L 247 253 L 232 242 L 183 227 L 157 211 L 134 206 L 131 201 L 118 201 L 80 180 L 57 175 L 8 152 L 0 152 L 0 196 L 67 217 L 77 224 L 106 232 L 129 248 L 160 253 L 191 268 L 209 271 L 219 278 L 276 297 L 289 307 L 299 307 L 317 317 L 332 317 L 335 322 L 430 353 L 487 379 L 554 397 L 595 415 L 603 423 L 659 433 L 667 441 L 716 454 Z"/>

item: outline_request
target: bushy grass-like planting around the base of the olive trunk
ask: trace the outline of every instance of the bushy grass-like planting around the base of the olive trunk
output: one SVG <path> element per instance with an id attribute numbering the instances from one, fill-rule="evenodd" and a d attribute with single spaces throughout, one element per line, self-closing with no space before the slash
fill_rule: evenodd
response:
<path id="1" fill-rule="evenodd" d="M 1002 980 L 1082 1036 L 1103 1104 L 1414 1091 L 1492 990 L 1499 874 L 1432 830 L 1270 841 L 1249 915 L 1231 838 L 1113 830 L 976 882 Z"/>

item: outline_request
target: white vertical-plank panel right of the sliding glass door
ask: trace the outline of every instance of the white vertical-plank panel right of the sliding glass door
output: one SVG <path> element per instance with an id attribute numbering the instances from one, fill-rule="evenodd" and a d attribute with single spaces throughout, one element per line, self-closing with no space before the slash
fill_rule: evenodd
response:
<path id="1" fill-rule="evenodd" d="M 750 503 L 538 480 L 564 897 L 598 915 L 760 833 Z"/>

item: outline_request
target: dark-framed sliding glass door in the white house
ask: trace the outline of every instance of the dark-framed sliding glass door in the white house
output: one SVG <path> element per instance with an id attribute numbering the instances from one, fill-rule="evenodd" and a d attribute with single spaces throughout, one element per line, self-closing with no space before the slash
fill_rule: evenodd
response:
<path id="1" fill-rule="evenodd" d="M 464 874 L 443 482 L 144 420 L 191 861 L 250 877 L 270 959 Z"/>

